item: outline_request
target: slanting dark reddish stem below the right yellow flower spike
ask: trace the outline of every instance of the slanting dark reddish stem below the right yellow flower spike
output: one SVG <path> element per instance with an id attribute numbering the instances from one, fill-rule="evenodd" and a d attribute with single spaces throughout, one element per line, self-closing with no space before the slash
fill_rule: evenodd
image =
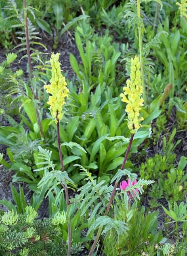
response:
<path id="1" fill-rule="evenodd" d="M 133 138 L 134 138 L 134 133 L 131 133 L 130 142 L 129 142 L 128 148 L 127 148 L 127 150 L 126 150 L 126 154 L 125 154 L 125 157 L 124 157 L 124 160 L 123 160 L 123 163 L 122 163 L 121 170 L 124 169 L 124 166 L 125 166 L 125 163 L 126 163 L 126 160 L 127 160 L 127 157 L 128 157 L 128 153 L 129 153 L 130 147 L 131 147 L 131 145 L 132 145 L 132 140 L 133 140 Z M 114 185 L 114 187 L 113 187 L 113 191 L 112 191 L 112 194 L 111 194 L 111 196 L 110 196 L 110 200 L 109 200 L 109 202 L 108 202 L 108 205 L 107 205 L 107 208 L 106 208 L 106 210 L 105 210 L 104 215 L 107 215 L 108 212 L 109 212 L 109 209 L 110 209 L 110 206 L 111 206 L 111 202 L 113 201 L 113 198 L 114 198 L 114 196 L 115 196 L 116 188 L 118 187 L 118 183 L 119 183 L 119 182 L 116 182 L 115 185 Z M 98 242 L 98 240 L 99 240 L 99 237 L 100 237 L 100 235 L 101 235 L 102 229 L 103 229 L 103 227 L 101 226 L 101 227 L 99 228 L 98 232 L 97 232 L 97 235 L 96 235 L 96 237 L 95 237 L 95 240 L 94 240 L 94 242 L 93 242 L 93 244 L 92 244 L 92 247 L 91 247 L 91 250 L 90 250 L 88 256 L 91 256 L 92 253 L 94 252 L 95 247 L 96 247 L 96 245 L 97 245 L 97 242 Z"/>

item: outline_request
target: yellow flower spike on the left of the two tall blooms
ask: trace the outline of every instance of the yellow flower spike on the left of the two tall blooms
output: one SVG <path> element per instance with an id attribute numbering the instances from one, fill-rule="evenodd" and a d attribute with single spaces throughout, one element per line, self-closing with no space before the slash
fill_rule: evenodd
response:
<path id="1" fill-rule="evenodd" d="M 59 62 L 59 53 L 52 53 L 50 58 L 50 65 L 52 68 L 52 77 L 50 85 L 44 85 L 47 93 L 50 93 L 49 101 L 51 115 L 55 118 L 56 123 L 62 119 L 62 107 L 65 104 L 65 97 L 68 97 L 69 90 L 65 77 L 61 74 L 61 67 Z"/>

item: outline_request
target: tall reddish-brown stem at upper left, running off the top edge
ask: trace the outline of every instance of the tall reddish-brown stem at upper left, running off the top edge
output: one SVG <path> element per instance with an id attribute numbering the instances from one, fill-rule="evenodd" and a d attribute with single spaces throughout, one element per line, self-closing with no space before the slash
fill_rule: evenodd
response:
<path id="1" fill-rule="evenodd" d="M 32 73 L 31 54 L 30 54 L 29 28 L 28 28 L 28 21 L 27 21 L 27 3 L 26 3 L 26 0 L 23 0 L 23 5 L 24 5 L 25 39 L 26 39 L 26 47 L 27 47 L 27 60 L 28 60 L 28 64 L 29 64 L 29 78 L 30 78 L 30 81 L 31 81 L 32 95 L 34 96 L 34 99 L 37 99 L 37 96 L 34 93 L 34 87 L 33 87 L 33 83 L 32 83 L 33 73 Z M 36 118 L 37 118 L 39 130 L 40 130 L 40 134 L 41 134 L 41 137 L 44 140 L 44 132 L 43 132 L 43 129 L 42 129 L 42 124 L 41 124 L 41 121 L 40 121 L 39 112 L 38 112 L 38 109 L 36 108 L 36 103 L 35 102 L 34 102 L 34 106 L 35 106 Z"/>

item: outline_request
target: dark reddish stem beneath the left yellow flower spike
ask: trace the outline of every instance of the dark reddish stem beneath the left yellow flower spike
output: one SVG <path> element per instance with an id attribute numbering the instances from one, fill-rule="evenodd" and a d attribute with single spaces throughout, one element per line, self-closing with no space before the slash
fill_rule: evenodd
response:
<path id="1" fill-rule="evenodd" d="M 57 116 L 58 116 L 58 112 L 57 112 Z M 62 151 L 61 151 L 61 143 L 60 143 L 60 129 L 59 129 L 59 120 L 57 119 L 57 140 L 58 140 L 58 148 L 59 148 L 59 157 L 60 157 L 60 161 L 61 161 L 61 169 L 62 172 L 64 171 L 64 164 L 63 164 L 63 158 L 62 158 Z M 69 195 L 68 195 L 68 190 L 67 190 L 67 186 L 65 186 L 65 198 L 66 198 L 66 205 L 68 207 L 69 205 Z M 71 223 L 70 223 L 70 218 L 67 218 L 67 222 L 68 222 L 68 250 L 67 250 L 67 256 L 70 256 L 71 254 Z"/>

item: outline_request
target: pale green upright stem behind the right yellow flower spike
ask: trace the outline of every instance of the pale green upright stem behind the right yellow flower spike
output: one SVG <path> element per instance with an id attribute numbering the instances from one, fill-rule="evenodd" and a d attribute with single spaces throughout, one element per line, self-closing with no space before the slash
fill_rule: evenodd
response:
<path id="1" fill-rule="evenodd" d="M 146 91 L 145 91 L 145 79 L 144 79 L 144 63 L 143 63 L 143 52 L 142 52 L 142 28 L 140 24 L 141 20 L 141 13 L 140 13 L 140 0 L 137 0 L 137 15 L 138 15 L 138 38 L 139 38 L 139 52 L 140 52 L 140 69 L 141 69 L 141 81 L 142 81 L 142 87 L 143 87 L 143 99 L 145 105 L 147 104 L 147 97 L 146 97 Z"/>

